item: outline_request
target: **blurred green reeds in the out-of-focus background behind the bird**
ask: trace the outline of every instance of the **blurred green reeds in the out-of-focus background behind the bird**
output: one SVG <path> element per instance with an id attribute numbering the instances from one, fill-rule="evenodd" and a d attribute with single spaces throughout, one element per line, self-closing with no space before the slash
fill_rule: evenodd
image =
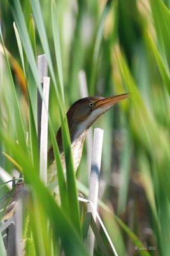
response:
<path id="1" fill-rule="evenodd" d="M 35 22 L 32 4 L 27 0 L 20 3 L 27 29 L 30 31 L 31 19 Z M 62 0 L 56 3 L 66 110 L 81 98 L 78 79 L 80 70 L 85 71 L 90 96 L 107 97 L 125 92 L 132 93 L 131 98 L 117 104 L 92 127 L 93 130 L 95 127 L 104 129 L 99 196 L 104 204 L 108 205 L 110 212 L 103 209 L 99 209 L 99 212 L 118 255 L 138 255 L 146 252 L 134 250 L 135 238 L 130 230 L 120 223 L 120 219 L 136 234 L 136 239 L 147 246 L 150 255 L 169 255 L 170 1 Z M 51 1 L 41 0 L 40 4 L 55 79 L 59 84 Z M 4 45 L 13 56 L 8 57 L 24 121 L 24 131 L 29 131 L 28 100 L 11 12 L 15 8 L 11 6 L 8 1 L 0 1 L 1 29 Z M 34 27 L 36 55 L 43 54 L 45 51 L 38 33 L 38 25 L 34 23 Z M 5 125 L 8 126 L 6 134 L 10 134 L 15 141 L 15 116 L 10 108 L 11 95 L 8 92 L 10 89 L 7 85 L 8 75 L 4 67 L 3 49 L 0 56 L 1 126 L 2 129 Z M 29 61 L 25 51 L 24 61 L 28 77 Z M 56 132 L 60 126 L 59 102 L 52 79 L 49 108 Z M 36 115 L 34 107 L 33 112 Z M 49 136 L 49 147 L 50 144 Z M 89 164 L 86 148 L 85 145 L 76 176 L 88 187 Z M 10 156 L 13 155 L 3 140 L 0 149 Z M 7 172 L 11 173 L 13 170 L 13 165 L 1 152 L 0 164 Z M 114 214 L 120 219 L 116 219 Z M 97 249 L 96 255 L 100 255 L 97 254 Z"/>

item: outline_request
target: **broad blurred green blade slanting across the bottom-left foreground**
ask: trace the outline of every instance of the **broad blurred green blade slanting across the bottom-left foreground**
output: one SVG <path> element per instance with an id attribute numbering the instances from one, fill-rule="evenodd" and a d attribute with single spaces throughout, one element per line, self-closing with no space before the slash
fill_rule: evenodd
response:
<path id="1" fill-rule="evenodd" d="M 36 193 L 35 195 L 38 202 L 41 204 L 43 211 L 46 216 L 48 216 L 50 223 L 52 224 L 55 239 L 58 239 L 58 237 L 61 239 L 62 247 L 66 256 L 80 254 L 87 256 L 88 253 L 78 236 L 78 230 L 73 227 L 71 220 L 64 212 L 61 211 L 59 205 L 56 204 L 48 189 L 45 188 L 45 185 L 41 182 L 39 176 L 34 172 L 34 168 L 30 164 L 30 157 L 25 154 L 21 147 L 16 147 L 15 143 L 11 141 L 9 136 L 6 136 L 1 130 L 0 139 L 11 148 L 11 151 L 18 163 L 23 167 L 25 182 L 29 184 L 31 190 Z M 32 205 L 32 207 L 34 207 L 34 205 Z M 43 232 L 46 232 L 46 230 L 43 230 Z M 37 236 L 42 236 L 40 230 Z"/>

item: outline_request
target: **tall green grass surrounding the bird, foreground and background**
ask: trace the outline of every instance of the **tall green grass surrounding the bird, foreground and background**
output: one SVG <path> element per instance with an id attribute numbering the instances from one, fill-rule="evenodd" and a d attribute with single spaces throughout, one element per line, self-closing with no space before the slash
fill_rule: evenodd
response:
<path id="1" fill-rule="evenodd" d="M 1 3 L 4 19 L 0 149 L 20 164 L 29 187 L 23 232 L 26 253 L 30 250 L 37 255 L 55 255 L 63 249 L 66 255 L 88 255 L 81 234 L 85 209 L 77 200 L 64 119 L 69 106 L 80 98 L 78 72 L 84 69 L 90 95 L 132 93 L 131 99 L 115 106 L 95 124 L 104 127 L 101 177 L 104 204 L 101 202 L 99 212 L 118 255 L 169 255 L 170 3 L 161 0 L 49 3 L 50 6 L 43 0 L 41 5 L 37 0 L 22 1 L 22 5 L 19 0 Z M 14 29 L 11 20 L 15 21 Z M 42 90 L 36 54 L 43 53 L 52 81 L 49 146 L 53 144 L 57 160 L 61 206 L 39 180 L 36 93 L 39 90 L 42 96 Z M 60 123 L 68 156 L 66 181 L 55 141 Z M 28 145 L 26 131 L 29 131 Z M 13 163 L 1 152 L 1 167 L 12 173 Z M 83 152 L 77 177 L 88 186 L 86 170 Z M 1 194 L 7 190 L 1 186 Z M 112 253 L 102 230 L 100 234 L 106 251 Z M 143 247 L 148 250 L 139 250 Z M 0 250 L 4 252 L 2 239 Z M 98 244 L 94 255 L 101 255 Z"/>

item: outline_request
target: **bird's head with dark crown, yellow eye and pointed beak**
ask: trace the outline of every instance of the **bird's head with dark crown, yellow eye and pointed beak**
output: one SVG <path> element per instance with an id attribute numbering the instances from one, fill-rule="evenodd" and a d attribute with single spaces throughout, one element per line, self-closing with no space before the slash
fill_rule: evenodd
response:
<path id="1" fill-rule="evenodd" d="M 70 134 L 74 134 L 73 139 L 95 122 L 95 120 L 106 113 L 112 106 L 120 100 L 129 97 L 130 93 L 124 93 L 113 97 L 86 97 L 76 101 L 67 112 Z"/>

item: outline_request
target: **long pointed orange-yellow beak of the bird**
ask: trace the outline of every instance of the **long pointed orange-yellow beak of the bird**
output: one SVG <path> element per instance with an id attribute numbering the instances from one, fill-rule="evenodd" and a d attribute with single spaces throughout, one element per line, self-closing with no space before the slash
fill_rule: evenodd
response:
<path id="1" fill-rule="evenodd" d="M 104 108 L 104 107 L 113 106 L 118 101 L 127 99 L 130 95 L 131 95 L 131 93 L 124 93 L 124 94 L 121 94 L 121 95 L 117 95 L 117 96 L 97 100 L 97 102 L 95 104 L 95 108 Z"/>

